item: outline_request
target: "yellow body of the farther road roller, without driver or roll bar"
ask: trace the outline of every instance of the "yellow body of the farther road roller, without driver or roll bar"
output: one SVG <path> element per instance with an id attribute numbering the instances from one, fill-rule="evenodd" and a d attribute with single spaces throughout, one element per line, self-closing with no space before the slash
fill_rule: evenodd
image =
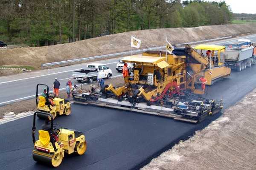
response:
<path id="1" fill-rule="evenodd" d="M 55 97 L 53 99 L 54 105 L 46 105 L 46 99 L 44 96 L 39 96 L 39 102 L 38 102 L 38 111 L 44 111 L 47 113 L 52 114 L 53 118 L 55 118 L 57 115 L 70 115 L 71 113 L 71 105 L 70 102 L 65 103 L 64 99 Z"/>

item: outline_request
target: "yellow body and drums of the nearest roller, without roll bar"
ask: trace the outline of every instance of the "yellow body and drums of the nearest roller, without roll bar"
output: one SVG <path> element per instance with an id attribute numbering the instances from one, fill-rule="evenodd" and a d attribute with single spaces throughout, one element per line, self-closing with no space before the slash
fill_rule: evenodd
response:
<path id="1" fill-rule="evenodd" d="M 53 167 L 58 167 L 64 158 L 64 152 L 84 154 L 87 149 L 85 136 L 81 132 L 60 129 L 58 142 L 55 142 L 56 151 L 50 142 L 49 132 L 39 130 L 39 139 L 35 142 L 33 159 Z"/>

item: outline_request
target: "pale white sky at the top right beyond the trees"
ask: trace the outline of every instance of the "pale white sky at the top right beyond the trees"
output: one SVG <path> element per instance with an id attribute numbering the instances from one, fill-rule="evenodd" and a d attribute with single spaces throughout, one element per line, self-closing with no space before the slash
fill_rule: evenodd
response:
<path id="1" fill-rule="evenodd" d="M 206 0 L 217 1 L 223 0 Z M 226 4 L 230 6 L 233 13 L 247 13 L 256 14 L 256 0 L 225 0 Z"/>

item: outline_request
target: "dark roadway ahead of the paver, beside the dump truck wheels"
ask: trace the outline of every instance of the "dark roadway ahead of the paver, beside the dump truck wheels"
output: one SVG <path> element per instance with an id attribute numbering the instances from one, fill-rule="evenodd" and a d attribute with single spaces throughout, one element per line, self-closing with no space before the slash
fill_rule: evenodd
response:
<path id="1" fill-rule="evenodd" d="M 229 108 L 256 88 L 256 65 L 244 71 L 231 72 L 230 77 L 207 86 L 206 98 L 223 99 L 224 108 Z M 221 91 L 221 93 L 219 93 Z"/>

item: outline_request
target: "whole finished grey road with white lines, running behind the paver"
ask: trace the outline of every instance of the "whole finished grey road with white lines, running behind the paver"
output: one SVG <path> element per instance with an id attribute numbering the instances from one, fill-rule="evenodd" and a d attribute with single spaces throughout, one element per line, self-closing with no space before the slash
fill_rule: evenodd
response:
<path id="1" fill-rule="evenodd" d="M 256 42 L 256 34 L 239 38 L 247 38 L 252 40 L 252 42 Z M 225 42 L 232 42 L 239 38 L 210 42 L 209 44 L 223 45 Z M 116 71 L 116 63 L 119 59 L 121 58 L 107 59 L 98 62 L 107 64 L 113 72 L 113 77 L 115 77 L 120 75 L 120 73 Z M 65 83 L 71 78 L 72 71 L 77 71 L 85 67 L 86 64 L 87 63 L 0 77 L 0 106 L 35 97 L 35 87 L 38 83 L 47 84 L 50 90 L 52 90 L 52 83 L 55 78 L 58 78 L 61 82 L 61 88 L 65 88 Z M 74 83 L 79 84 L 73 80 L 73 84 Z"/>

